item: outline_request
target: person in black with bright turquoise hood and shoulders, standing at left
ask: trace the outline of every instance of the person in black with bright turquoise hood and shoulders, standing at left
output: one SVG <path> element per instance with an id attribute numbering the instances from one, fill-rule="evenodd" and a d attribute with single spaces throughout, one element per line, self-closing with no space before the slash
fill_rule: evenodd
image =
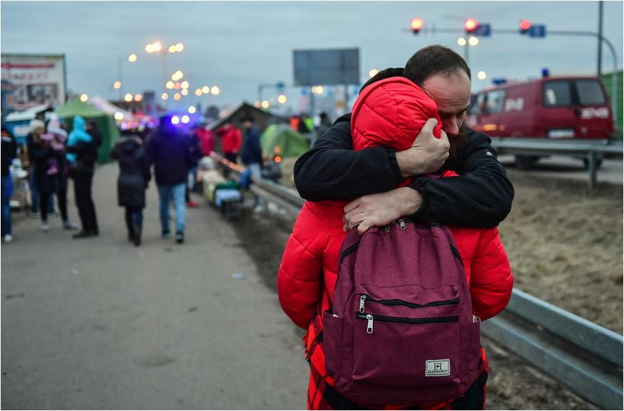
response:
<path id="1" fill-rule="evenodd" d="M 73 118 L 73 130 L 67 137 L 69 175 L 74 180 L 74 197 L 80 215 L 82 230 L 73 238 L 89 238 L 100 235 L 95 204 L 91 197 L 95 162 L 98 160 L 98 146 L 89 133 L 86 133 L 85 121 L 80 115 Z"/>

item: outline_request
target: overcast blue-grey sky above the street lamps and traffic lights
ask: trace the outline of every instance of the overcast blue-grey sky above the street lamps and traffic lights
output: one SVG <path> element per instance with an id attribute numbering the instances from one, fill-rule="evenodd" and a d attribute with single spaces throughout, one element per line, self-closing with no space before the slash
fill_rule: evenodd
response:
<path id="1" fill-rule="evenodd" d="M 123 64 L 123 90 L 162 92 L 161 60 L 145 52 L 145 45 L 156 40 L 183 42 L 183 52 L 169 55 L 169 72 L 183 70 L 192 90 L 219 85 L 221 95 L 199 101 L 221 106 L 254 102 L 258 84 L 293 84 L 293 50 L 359 48 L 362 83 L 371 68 L 404 66 L 429 44 L 463 55 L 459 35 L 405 31 L 412 17 L 437 28 L 462 28 L 466 17 L 491 24 L 493 35 L 470 48 L 473 73 L 488 75 L 474 78 L 473 90 L 495 77 L 538 77 L 543 67 L 553 75 L 596 73 L 595 38 L 531 39 L 497 35 L 496 29 L 515 29 L 528 18 L 547 30 L 597 32 L 598 1 L 2 1 L 0 8 L 1 52 L 64 53 L 68 88 L 107 98 L 118 96 L 112 88 L 118 60 L 132 52 L 138 61 Z M 604 2 L 603 35 L 614 44 L 621 68 L 621 1 Z M 603 47 L 603 70 L 612 67 L 612 55 Z M 296 99 L 300 91 L 288 95 Z M 187 97 L 187 102 L 197 100 L 192 93 Z"/>

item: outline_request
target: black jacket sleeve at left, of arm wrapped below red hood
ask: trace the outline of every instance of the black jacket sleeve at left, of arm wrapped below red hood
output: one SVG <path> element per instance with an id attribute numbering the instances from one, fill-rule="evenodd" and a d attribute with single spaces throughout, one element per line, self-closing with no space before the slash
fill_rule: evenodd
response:
<path id="1" fill-rule="evenodd" d="M 383 193 L 401 181 L 394 150 L 354 151 L 350 115 L 340 117 L 295 162 L 295 187 L 310 201 L 348 200 Z"/>

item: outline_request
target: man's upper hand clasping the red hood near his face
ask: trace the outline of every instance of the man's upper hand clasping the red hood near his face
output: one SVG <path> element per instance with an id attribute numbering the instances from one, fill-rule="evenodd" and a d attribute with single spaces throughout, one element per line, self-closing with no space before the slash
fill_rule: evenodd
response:
<path id="1" fill-rule="evenodd" d="M 446 162 L 450 144 L 444 131 L 440 138 L 434 137 L 433 128 L 437 122 L 434 118 L 427 120 L 412 146 L 407 150 L 396 152 L 396 162 L 406 178 L 433 173 Z"/>

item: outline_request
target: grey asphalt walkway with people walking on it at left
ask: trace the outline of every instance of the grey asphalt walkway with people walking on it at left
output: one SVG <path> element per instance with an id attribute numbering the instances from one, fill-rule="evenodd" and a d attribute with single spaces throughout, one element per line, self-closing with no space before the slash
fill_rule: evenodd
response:
<path id="1" fill-rule="evenodd" d="M 152 184 L 136 248 L 116 175 L 96 173 L 99 238 L 26 219 L 1 246 L 1 408 L 304 409 L 300 336 L 232 227 L 201 202 L 185 245 L 161 239 Z"/>

